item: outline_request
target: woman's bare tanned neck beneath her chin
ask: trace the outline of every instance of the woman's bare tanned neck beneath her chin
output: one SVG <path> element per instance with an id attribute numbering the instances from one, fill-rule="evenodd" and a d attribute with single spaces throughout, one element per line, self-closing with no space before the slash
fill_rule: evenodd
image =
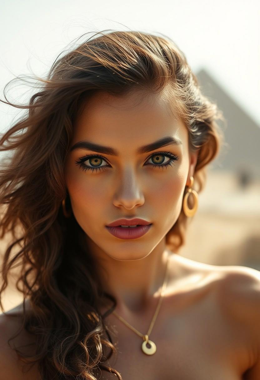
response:
<path id="1" fill-rule="evenodd" d="M 90 239 L 87 244 L 97 262 L 103 289 L 117 301 L 118 313 L 142 312 L 160 297 L 170 253 L 164 241 L 138 260 L 116 260 Z M 111 302 L 105 305 L 111 306 Z"/>

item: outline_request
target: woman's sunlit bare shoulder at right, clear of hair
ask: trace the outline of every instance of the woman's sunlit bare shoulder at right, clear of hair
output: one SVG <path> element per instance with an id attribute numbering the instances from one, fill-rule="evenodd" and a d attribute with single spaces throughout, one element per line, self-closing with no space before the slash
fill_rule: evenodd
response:
<path id="1" fill-rule="evenodd" d="M 260 271 L 210 265 L 181 256 L 175 256 L 175 262 L 182 272 L 196 274 L 217 294 L 218 306 L 228 323 L 239 326 L 237 333 L 248 337 L 245 344 L 249 365 L 243 379 L 260 379 Z"/>

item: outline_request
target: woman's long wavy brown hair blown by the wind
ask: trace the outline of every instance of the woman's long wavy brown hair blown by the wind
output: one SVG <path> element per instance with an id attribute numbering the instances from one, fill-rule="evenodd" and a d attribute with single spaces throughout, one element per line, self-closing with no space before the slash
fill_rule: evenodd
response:
<path id="1" fill-rule="evenodd" d="M 216 120 L 222 114 L 202 95 L 176 44 L 148 33 L 100 32 L 57 57 L 47 78 L 36 80 L 37 91 L 28 104 L 14 104 L 6 95 L 1 100 L 27 110 L 0 139 L 1 151 L 14 150 L 0 168 L 0 234 L 11 233 L 0 295 L 11 269 L 19 268 L 16 287 L 24 297 L 23 326 L 35 334 L 34 355 L 14 349 L 24 363 L 38 364 L 44 380 L 95 380 L 100 370 L 122 379 L 106 363 L 117 352 L 105 323 L 116 300 L 101 287 L 84 231 L 61 208 L 75 117 L 83 101 L 100 90 L 115 96 L 138 89 L 163 92 L 187 126 L 190 149 L 199 149 L 194 181 L 200 192 L 206 165 L 219 152 L 222 134 Z M 175 252 L 184 244 L 186 225 L 181 211 L 166 235 Z M 99 309 L 103 297 L 113 301 L 106 315 Z M 26 310 L 25 300 L 30 304 Z M 1 307 L 4 311 L 2 302 Z"/>

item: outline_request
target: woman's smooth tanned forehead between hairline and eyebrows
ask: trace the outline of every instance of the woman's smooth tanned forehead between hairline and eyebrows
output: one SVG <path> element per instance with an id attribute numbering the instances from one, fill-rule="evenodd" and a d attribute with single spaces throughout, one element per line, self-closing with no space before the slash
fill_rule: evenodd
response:
<path id="1" fill-rule="evenodd" d="M 169 135 L 187 144 L 187 128 L 163 93 L 135 91 L 121 97 L 95 93 L 82 103 L 73 125 L 73 144 L 86 139 L 117 149 L 136 148 Z"/>

